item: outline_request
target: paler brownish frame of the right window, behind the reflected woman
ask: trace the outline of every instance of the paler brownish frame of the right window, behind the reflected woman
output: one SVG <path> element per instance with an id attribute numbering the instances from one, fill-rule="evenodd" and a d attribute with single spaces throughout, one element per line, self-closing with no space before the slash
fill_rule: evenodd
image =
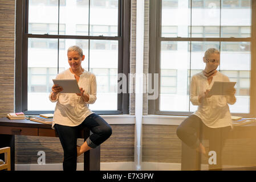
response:
<path id="1" fill-rule="evenodd" d="M 250 75 L 250 113 L 232 113 L 242 117 L 256 117 L 256 1 L 251 1 L 251 37 L 250 38 L 165 38 L 161 37 L 161 2 L 149 0 L 149 73 L 160 75 L 161 41 L 184 42 L 250 42 L 251 44 L 251 75 Z M 190 1 L 191 3 L 191 1 Z M 159 83 L 161 77 L 159 76 Z M 152 79 L 153 80 L 153 79 Z M 190 82 L 190 80 L 189 80 Z M 153 85 L 153 81 L 152 81 Z M 193 112 L 161 111 L 160 86 L 159 97 L 148 100 L 148 114 L 188 116 Z"/>

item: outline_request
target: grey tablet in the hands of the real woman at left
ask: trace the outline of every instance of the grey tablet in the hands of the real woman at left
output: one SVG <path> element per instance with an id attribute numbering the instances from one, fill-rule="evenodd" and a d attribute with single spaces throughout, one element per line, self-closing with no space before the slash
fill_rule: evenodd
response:
<path id="1" fill-rule="evenodd" d="M 52 79 L 54 85 L 62 86 L 63 90 L 60 93 L 80 93 L 78 82 L 76 79 Z"/>

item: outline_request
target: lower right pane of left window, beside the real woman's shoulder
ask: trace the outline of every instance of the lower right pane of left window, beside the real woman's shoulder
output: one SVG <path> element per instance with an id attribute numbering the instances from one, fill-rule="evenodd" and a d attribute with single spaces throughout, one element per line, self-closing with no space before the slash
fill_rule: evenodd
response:
<path id="1" fill-rule="evenodd" d="M 96 75 L 97 101 L 92 110 L 117 110 L 118 49 L 113 40 L 90 40 L 90 71 Z"/>

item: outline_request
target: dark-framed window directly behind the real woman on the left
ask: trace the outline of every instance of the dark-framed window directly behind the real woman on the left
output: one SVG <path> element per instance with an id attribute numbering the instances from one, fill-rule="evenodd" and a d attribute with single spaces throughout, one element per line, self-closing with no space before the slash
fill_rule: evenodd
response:
<path id="1" fill-rule="evenodd" d="M 96 75 L 97 101 L 90 109 L 99 114 L 128 113 L 128 93 L 117 92 L 117 79 L 118 73 L 129 72 L 130 3 L 17 1 L 18 16 L 27 16 L 17 20 L 17 30 L 23 39 L 16 45 L 18 57 L 22 57 L 16 60 L 17 67 L 22 67 L 21 72 L 17 71 L 22 78 L 16 84 L 27 87 L 17 92 L 15 110 L 26 114 L 54 111 L 55 103 L 48 100 L 52 78 L 69 68 L 67 49 L 78 45 L 86 56 L 82 67 Z"/>

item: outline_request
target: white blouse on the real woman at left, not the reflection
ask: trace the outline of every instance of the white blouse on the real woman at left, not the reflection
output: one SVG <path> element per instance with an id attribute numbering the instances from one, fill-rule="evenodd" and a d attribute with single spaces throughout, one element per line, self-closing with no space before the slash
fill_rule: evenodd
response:
<path id="1" fill-rule="evenodd" d="M 56 79 L 74 78 L 75 75 L 71 73 L 70 69 L 63 71 L 56 76 Z M 84 93 L 89 94 L 88 102 L 84 102 L 83 98 L 75 93 L 58 93 L 56 100 L 51 100 L 52 92 L 50 93 L 50 101 L 57 102 L 52 129 L 54 129 L 55 123 L 64 126 L 78 126 L 88 115 L 93 113 L 88 108 L 88 104 L 94 104 L 96 101 L 97 84 L 95 75 L 84 69 L 84 72 L 80 75 L 78 86 L 79 88 L 84 89 Z"/>

